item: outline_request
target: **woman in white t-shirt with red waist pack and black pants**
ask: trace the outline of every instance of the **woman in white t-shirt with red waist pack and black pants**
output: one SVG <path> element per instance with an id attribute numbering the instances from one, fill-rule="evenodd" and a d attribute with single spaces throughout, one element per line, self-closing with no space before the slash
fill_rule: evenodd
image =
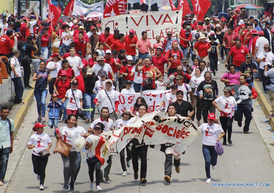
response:
<path id="1" fill-rule="evenodd" d="M 216 98 L 212 104 L 218 109 L 220 114 L 220 123 L 225 132 L 223 136 L 223 145 L 227 145 L 227 141 L 229 144 L 232 144 L 231 134 L 232 134 L 232 123 L 234 120 L 233 109 L 234 106 L 237 105 L 236 100 L 233 96 L 230 96 L 231 88 L 227 87 L 223 90 L 223 95 L 219 98 Z M 220 107 L 217 105 L 220 103 Z M 228 132 L 228 137 L 226 136 Z"/>

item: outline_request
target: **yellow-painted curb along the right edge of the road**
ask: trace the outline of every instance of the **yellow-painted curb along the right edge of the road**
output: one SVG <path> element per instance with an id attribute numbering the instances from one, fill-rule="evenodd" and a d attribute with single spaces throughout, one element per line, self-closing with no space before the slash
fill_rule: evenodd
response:
<path id="1" fill-rule="evenodd" d="M 265 116 L 267 117 L 271 115 L 272 108 L 269 105 L 268 101 L 266 100 L 264 93 L 262 92 L 262 90 L 260 89 L 256 81 L 254 81 L 254 87 L 258 93 L 257 99 L 262 107 L 262 111 L 265 113 Z M 269 123 L 270 123 L 270 127 L 274 128 L 274 118 L 269 118 Z"/>

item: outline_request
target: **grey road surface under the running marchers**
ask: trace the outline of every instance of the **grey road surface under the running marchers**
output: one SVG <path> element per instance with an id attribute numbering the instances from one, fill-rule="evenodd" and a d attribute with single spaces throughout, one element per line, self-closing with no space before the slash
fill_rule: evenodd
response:
<path id="1" fill-rule="evenodd" d="M 222 61 L 223 62 L 223 61 Z M 224 84 L 220 77 L 225 73 L 223 65 L 219 66 L 217 77 L 219 95 L 223 95 Z M 47 102 L 49 98 L 47 98 Z M 255 104 L 254 102 L 254 105 Z M 257 112 L 253 112 L 257 113 Z M 47 113 L 46 113 L 47 114 Z M 262 116 L 264 116 L 262 114 Z M 95 118 L 98 118 L 97 113 Z M 29 109 L 24 122 L 24 129 L 19 133 L 19 143 L 26 144 L 32 133 L 34 121 L 37 119 L 36 101 Z M 202 120 L 201 120 L 202 122 Z M 59 123 L 60 128 L 64 124 Z M 90 124 L 79 121 L 79 125 L 88 130 Z M 53 129 L 44 128 L 44 132 L 49 134 L 53 142 L 53 150 L 56 139 L 53 136 Z M 141 185 L 139 180 L 134 180 L 132 163 L 128 168 L 128 176 L 122 177 L 123 170 L 120 164 L 120 156 L 116 155 L 112 159 L 110 181 L 100 184 L 102 192 L 273 192 L 273 163 L 269 157 L 265 144 L 258 132 L 254 120 L 250 125 L 250 134 L 244 134 L 243 129 L 239 128 L 237 122 L 233 123 L 232 145 L 224 146 L 224 154 L 218 157 L 216 170 L 211 170 L 212 183 L 269 183 L 269 187 L 213 187 L 206 184 L 205 161 L 202 155 L 201 138 L 198 137 L 186 150 L 181 159 L 181 172 L 176 173 L 173 167 L 171 183 L 167 184 L 164 180 L 164 161 L 163 152 L 155 149 L 148 149 L 147 153 L 147 183 Z M 21 159 L 12 176 L 6 192 L 40 192 L 39 182 L 33 173 L 31 161 L 31 150 L 25 148 Z M 81 169 L 78 174 L 75 190 L 73 192 L 96 191 L 89 188 L 88 167 L 83 159 L 86 152 L 81 153 Z M 20 156 L 20 155 L 16 155 Z M 95 176 L 95 174 L 94 174 Z M 6 179 L 8 180 L 8 179 Z M 46 168 L 46 179 L 44 192 L 61 192 L 63 187 L 63 163 L 59 154 L 49 157 Z M 259 184 L 258 184 L 259 185 Z"/>

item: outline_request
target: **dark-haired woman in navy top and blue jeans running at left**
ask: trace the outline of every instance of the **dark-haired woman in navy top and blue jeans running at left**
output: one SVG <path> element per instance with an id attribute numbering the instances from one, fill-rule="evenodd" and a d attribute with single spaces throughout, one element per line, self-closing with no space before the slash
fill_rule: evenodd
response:
<path id="1" fill-rule="evenodd" d="M 46 98 L 47 98 L 47 83 L 51 81 L 50 72 L 46 70 L 46 63 L 44 60 L 40 61 L 40 69 L 33 73 L 34 96 L 37 103 L 38 122 L 46 122 Z"/>

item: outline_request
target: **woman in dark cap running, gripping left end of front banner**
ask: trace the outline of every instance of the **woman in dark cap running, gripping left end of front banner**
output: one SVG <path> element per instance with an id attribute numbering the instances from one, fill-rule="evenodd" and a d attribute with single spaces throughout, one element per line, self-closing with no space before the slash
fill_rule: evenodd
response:
<path id="1" fill-rule="evenodd" d="M 104 125 L 102 123 L 97 123 L 97 124 L 94 125 L 93 132 L 91 134 L 98 136 L 99 134 L 103 133 L 103 130 L 104 130 Z M 96 190 L 99 191 L 99 190 L 102 190 L 102 188 L 100 187 L 101 162 L 92 153 L 92 151 L 90 149 L 92 147 L 92 145 L 93 144 L 88 142 L 88 140 L 86 141 L 85 149 L 88 150 L 87 153 L 86 153 L 86 163 L 87 163 L 88 168 L 89 168 L 90 189 L 94 188 L 93 174 L 94 174 L 94 170 L 95 170 Z"/>

